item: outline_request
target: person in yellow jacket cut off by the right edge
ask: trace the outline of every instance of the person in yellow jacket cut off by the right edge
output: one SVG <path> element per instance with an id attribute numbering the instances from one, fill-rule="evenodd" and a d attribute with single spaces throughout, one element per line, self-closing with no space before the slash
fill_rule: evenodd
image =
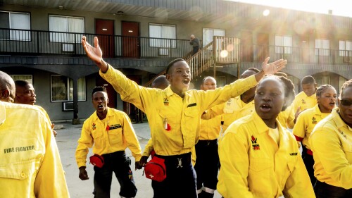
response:
<path id="1" fill-rule="evenodd" d="M 352 80 L 342 85 L 339 109 L 318 123 L 309 138 L 318 198 L 352 197 Z"/>

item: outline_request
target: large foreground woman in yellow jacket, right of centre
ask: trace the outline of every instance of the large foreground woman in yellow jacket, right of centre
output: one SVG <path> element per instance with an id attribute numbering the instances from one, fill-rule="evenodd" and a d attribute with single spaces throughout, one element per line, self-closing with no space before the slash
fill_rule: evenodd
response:
<path id="1" fill-rule="evenodd" d="M 293 99 L 287 78 L 268 75 L 258 82 L 256 111 L 232 123 L 219 147 L 223 197 L 315 197 L 294 135 L 276 119 Z"/>

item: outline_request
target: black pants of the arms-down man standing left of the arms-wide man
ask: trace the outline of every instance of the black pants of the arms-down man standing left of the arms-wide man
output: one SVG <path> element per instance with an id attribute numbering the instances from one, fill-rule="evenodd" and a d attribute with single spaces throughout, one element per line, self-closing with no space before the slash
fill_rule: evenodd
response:
<path id="1" fill-rule="evenodd" d="M 110 197 L 113 173 L 120 183 L 120 196 L 135 197 L 137 187 L 134 185 L 130 168 L 131 160 L 126 156 L 125 151 L 103 154 L 103 157 L 105 162 L 103 167 L 94 166 L 94 197 Z"/>

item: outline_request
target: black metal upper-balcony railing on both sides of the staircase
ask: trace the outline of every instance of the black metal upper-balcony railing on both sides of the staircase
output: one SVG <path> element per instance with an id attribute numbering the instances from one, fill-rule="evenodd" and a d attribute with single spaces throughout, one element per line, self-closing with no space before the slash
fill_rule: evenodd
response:
<path id="1" fill-rule="evenodd" d="M 74 32 L 49 32 L 0 28 L 1 55 L 58 55 L 83 56 L 82 36 L 94 43 L 99 37 L 103 56 L 111 58 L 182 58 L 192 51 L 187 39 L 125 37 L 121 35 L 94 35 Z M 244 45 L 239 50 L 240 62 L 262 62 L 284 58 L 289 63 L 352 65 L 352 51 L 303 47 Z"/>

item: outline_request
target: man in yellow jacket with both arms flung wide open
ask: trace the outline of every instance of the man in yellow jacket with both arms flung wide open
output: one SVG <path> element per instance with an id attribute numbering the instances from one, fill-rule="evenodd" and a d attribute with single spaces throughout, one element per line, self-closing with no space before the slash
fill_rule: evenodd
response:
<path id="1" fill-rule="evenodd" d="M 263 75 L 276 73 L 287 63 L 278 60 L 268 64 L 269 58 L 266 58 L 260 73 L 204 92 L 188 90 L 191 82 L 190 68 L 186 61 L 179 58 L 171 61 L 166 68 L 170 86 L 166 89 L 152 89 L 137 85 L 103 61 L 97 37 L 94 37 L 94 47 L 86 42 L 86 37 L 82 37 L 82 45 L 87 56 L 100 68 L 100 75 L 113 85 L 121 99 L 131 102 L 148 116 L 153 148 L 156 156 L 165 160 L 167 175 L 162 182 L 152 181 L 154 198 L 197 197 L 191 150 L 199 140 L 201 113 L 237 97 L 254 87 Z"/>

